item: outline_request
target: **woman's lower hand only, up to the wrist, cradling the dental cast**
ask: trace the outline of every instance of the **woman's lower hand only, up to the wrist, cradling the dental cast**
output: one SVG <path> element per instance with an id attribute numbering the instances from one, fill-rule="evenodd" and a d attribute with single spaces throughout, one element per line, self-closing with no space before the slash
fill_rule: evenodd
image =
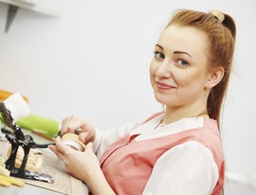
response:
<path id="1" fill-rule="evenodd" d="M 67 172 L 85 183 L 95 177 L 96 170 L 101 169 L 99 160 L 92 151 L 91 142 L 86 145 L 84 152 L 79 152 L 65 145 L 58 136 L 55 146 L 49 145 L 49 149 L 65 163 Z"/>

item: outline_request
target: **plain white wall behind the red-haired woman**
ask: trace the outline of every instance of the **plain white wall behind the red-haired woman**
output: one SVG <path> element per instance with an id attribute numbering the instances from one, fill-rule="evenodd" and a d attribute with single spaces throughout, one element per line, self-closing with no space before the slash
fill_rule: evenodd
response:
<path id="1" fill-rule="evenodd" d="M 75 113 L 102 130 L 161 109 L 148 66 L 175 9 L 220 9 L 232 15 L 237 42 L 224 109 L 226 168 L 238 178 L 255 177 L 254 0 L 38 0 L 43 1 L 61 17 L 20 9 L 9 33 L 4 33 L 8 6 L 0 3 L 0 89 L 26 95 L 33 113 L 58 121 Z M 255 194 L 255 188 L 235 180 L 225 185 L 226 194 Z"/>

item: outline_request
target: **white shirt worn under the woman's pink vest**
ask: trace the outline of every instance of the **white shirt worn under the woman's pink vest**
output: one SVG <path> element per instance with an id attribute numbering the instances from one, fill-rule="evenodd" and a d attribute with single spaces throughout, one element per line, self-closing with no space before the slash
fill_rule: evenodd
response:
<path id="1" fill-rule="evenodd" d="M 155 129 L 162 118 L 163 115 L 160 115 L 147 123 L 126 124 L 102 133 L 97 130 L 94 141 L 97 157 L 101 158 L 108 146 L 126 133 L 140 134 L 135 140 L 141 141 L 177 134 L 203 125 L 203 118 L 183 118 Z M 197 141 L 188 141 L 172 147 L 157 160 L 143 195 L 206 195 L 211 194 L 217 181 L 218 166 L 212 152 Z"/>

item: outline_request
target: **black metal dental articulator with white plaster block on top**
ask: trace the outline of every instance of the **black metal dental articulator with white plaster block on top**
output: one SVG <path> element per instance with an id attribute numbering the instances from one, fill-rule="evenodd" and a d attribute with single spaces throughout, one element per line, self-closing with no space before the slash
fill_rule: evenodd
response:
<path id="1" fill-rule="evenodd" d="M 11 144 L 11 152 L 5 162 L 6 169 L 9 169 L 10 175 L 36 181 L 54 182 L 54 178 L 50 175 L 26 169 L 29 153 L 32 148 L 37 146 L 32 136 L 24 135 L 22 129 L 15 123 L 20 118 L 30 115 L 26 101 L 18 93 L 10 95 L 8 99 L 0 102 L 0 113 L 3 116 L 4 123 L 11 129 L 11 134 L 5 135 Z M 23 158 L 20 158 L 20 160 L 22 159 L 20 167 L 15 167 L 15 159 L 19 159 L 17 154 L 20 146 L 23 149 L 24 155 Z"/>

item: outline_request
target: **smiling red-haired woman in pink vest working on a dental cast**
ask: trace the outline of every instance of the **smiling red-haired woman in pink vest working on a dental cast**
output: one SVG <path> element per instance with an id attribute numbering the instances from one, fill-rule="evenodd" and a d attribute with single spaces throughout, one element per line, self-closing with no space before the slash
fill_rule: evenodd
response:
<path id="1" fill-rule="evenodd" d="M 154 97 L 165 111 L 102 135 L 71 116 L 62 121 L 61 135 L 83 129 L 85 151 L 72 150 L 60 137 L 49 148 L 92 194 L 220 194 L 219 115 L 235 38 L 228 14 L 178 10 L 160 34 L 150 65 Z"/>

